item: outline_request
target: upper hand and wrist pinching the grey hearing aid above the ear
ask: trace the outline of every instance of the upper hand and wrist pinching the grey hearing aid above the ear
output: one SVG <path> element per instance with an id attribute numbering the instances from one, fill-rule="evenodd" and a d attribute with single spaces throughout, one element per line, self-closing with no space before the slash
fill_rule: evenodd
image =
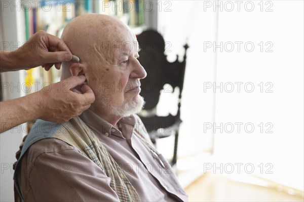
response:
<path id="1" fill-rule="evenodd" d="M 2 52 L 1 72 L 30 69 L 42 65 L 49 70 L 60 69 L 61 62 L 70 61 L 72 54 L 62 39 L 45 31 L 37 31 L 13 52 Z"/>

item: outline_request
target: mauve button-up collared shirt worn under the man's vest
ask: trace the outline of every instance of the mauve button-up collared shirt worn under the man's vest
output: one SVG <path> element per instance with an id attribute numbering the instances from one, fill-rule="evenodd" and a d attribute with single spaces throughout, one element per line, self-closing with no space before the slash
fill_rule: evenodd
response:
<path id="1" fill-rule="evenodd" d="M 115 159 L 141 201 L 187 201 L 170 164 L 160 154 L 163 167 L 134 134 L 134 128 L 145 131 L 137 115 L 122 118 L 121 131 L 91 110 L 80 117 Z M 109 186 L 110 178 L 92 160 L 55 138 L 29 147 L 17 179 L 25 201 L 119 201 Z"/>

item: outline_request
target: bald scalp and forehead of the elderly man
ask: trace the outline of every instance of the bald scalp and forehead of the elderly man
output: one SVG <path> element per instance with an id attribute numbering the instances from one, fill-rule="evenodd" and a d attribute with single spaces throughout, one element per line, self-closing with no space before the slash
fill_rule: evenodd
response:
<path id="1" fill-rule="evenodd" d="M 72 19 L 64 28 L 61 38 L 73 55 L 80 58 L 90 68 L 100 63 L 111 63 L 112 46 L 130 38 L 130 29 L 118 18 L 88 14 Z M 135 40 L 135 36 L 132 36 Z M 67 68 L 63 64 L 63 75 L 66 78 Z"/>

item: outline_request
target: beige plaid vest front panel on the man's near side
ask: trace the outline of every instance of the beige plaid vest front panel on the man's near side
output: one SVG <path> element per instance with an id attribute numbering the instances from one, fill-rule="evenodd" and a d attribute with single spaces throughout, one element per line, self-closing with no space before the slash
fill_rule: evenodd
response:
<path id="1" fill-rule="evenodd" d="M 68 123 L 63 124 L 53 137 L 78 148 L 94 161 L 111 179 L 110 187 L 117 193 L 120 201 L 140 201 L 128 178 L 87 125 L 79 117 L 71 119 Z"/>

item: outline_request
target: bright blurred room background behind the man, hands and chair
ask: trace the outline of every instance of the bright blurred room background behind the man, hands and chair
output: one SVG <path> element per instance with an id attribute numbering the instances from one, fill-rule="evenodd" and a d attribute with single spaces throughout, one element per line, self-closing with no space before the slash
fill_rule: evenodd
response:
<path id="1" fill-rule="evenodd" d="M 166 64 L 185 64 L 183 88 L 165 84 L 153 110 L 182 120 L 178 130 L 160 128 L 168 137 L 155 141 L 189 201 L 303 201 L 303 1 L 0 3 L 1 51 L 18 49 L 37 30 L 60 36 L 86 13 L 117 16 L 138 36 L 156 30 Z M 2 101 L 59 75 L 41 67 L 2 73 Z M 14 200 L 12 166 L 26 127 L 0 135 L 1 201 Z"/>

